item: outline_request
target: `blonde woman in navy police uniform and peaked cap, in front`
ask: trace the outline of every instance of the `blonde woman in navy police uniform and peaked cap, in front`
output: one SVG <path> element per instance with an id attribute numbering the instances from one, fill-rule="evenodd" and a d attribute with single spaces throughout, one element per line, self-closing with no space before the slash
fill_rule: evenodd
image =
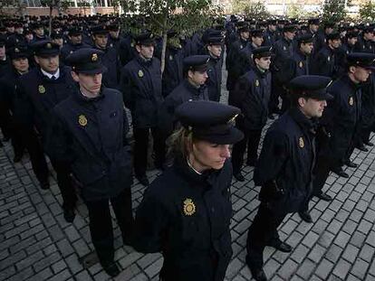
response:
<path id="1" fill-rule="evenodd" d="M 163 281 L 223 280 L 232 256 L 229 144 L 243 134 L 239 109 L 212 101 L 177 108 L 182 127 L 172 136 L 175 160 L 145 192 L 133 247 L 162 252 Z"/>

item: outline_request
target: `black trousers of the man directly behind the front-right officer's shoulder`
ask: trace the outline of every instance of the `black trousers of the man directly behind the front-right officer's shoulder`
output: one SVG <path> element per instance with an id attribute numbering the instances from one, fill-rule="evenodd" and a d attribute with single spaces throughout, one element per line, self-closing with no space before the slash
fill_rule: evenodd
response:
<path id="1" fill-rule="evenodd" d="M 233 145 L 232 165 L 233 173 L 239 173 L 244 164 L 244 154 L 247 146 L 247 161 L 256 161 L 258 159 L 258 146 L 262 136 L 260 130 L 246 130 L 237 126 L 244 133 L 244 138 Z"/>

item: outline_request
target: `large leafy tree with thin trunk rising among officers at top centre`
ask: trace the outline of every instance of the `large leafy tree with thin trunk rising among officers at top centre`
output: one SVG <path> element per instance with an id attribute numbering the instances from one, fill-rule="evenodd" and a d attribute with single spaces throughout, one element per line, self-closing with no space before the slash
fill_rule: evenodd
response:
<path id="1" fill-rule="evenodd" d="M 197 31 L 212 23 L 219 12 L 210 0 L 120 0 L 120 5 L 126 13 L 138 14 L 153 33 L 162 36 L 161 71 L 165 66 L 168 30 Z"/>

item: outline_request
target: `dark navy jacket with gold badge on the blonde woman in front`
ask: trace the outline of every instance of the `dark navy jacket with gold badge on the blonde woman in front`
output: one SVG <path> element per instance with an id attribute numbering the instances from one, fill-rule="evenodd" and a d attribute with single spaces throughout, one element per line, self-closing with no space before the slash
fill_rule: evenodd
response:
<path id="1" fill-rule="evenodd" d="M 232 256 L 231 179 L 228 161 L 221 170 L 198 175 L 178 159 L 146 190 L 136 214 L 134 248 L 162 252 L 162 280 L 224 280 Z"/>

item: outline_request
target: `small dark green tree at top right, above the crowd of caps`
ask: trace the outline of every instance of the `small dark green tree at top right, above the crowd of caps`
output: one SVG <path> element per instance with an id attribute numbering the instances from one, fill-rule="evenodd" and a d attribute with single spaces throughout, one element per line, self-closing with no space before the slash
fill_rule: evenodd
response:
<path id="1" fill-rule="evenodd" d="M 346 18 L 346 7 L 349 5 L 351 5 L 350 0 L 324 0 L 322 21 L 340 23 Z"/>

